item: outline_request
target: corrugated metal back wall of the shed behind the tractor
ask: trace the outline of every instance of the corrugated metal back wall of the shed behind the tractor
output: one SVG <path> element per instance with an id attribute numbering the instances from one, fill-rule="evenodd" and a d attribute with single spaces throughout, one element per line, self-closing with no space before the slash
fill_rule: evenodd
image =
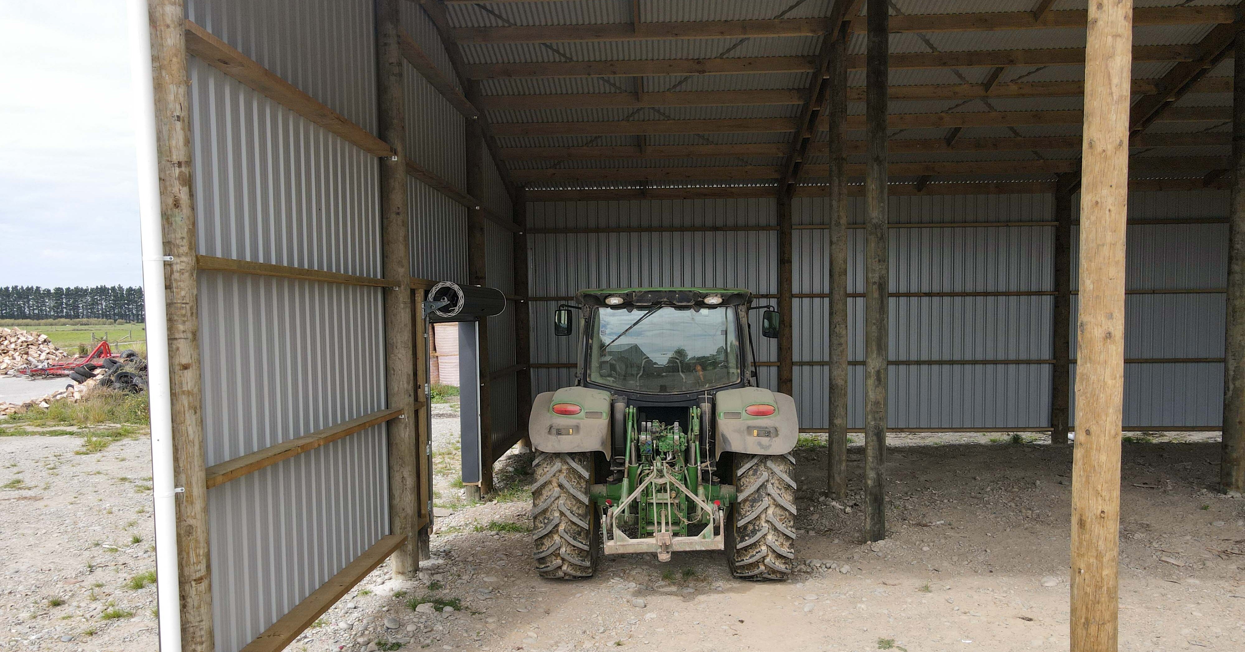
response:
<path id="1" fill-rule="evenodd" d="M 534 229 L 632 226 L 742 226 L 777 223 L 768 199 L 533 203 Z M 828 291 L 824 229 L 828 202 L 793 204 L 794 393 L 801 423 L 827 427 Z M 849 221 L 863 224 L 862 199 Z M 1129 226 L 1129 290 L 1221 289 L 1226 277 L 1226 225 L 1198 223 L 1226 215 L 1226 194 L 1134 193 L 1132 219 L 1185 220 Z M 1050 195 L 893 197 L 891 292 L 1050 292 L 1053 290 L 1055 229 Z M 974 223 L 971 225 L 965 223 Z M 976 223 L 981 223 L 977 225 Z M 1007 225 L 990 223 L 1008 223 Z M 777 291 L 777 231 L 548 233 L 529 235 L 533 301 L 533 362 L 575 361 L 573 338 L 554 337 L 553 310 L 583 287 L 701 285 Z M 864 231 L 849 230 L 848 291 L 863 292 Z M 1076 260 L 1073 261 L 1076 264 Z M 1073 286 L 1074 287 L 1074 286 Z M 767 300 L 762 300 L 767 301 Z M 774 302 L 768 300 L 769 302 Z M 1223 356 L 1223 294 L 1130 294 L 1129 358 Z M 848 300 L 849 355 L 864 358 L 864 300 Z M 1050 422 L 1051 295 L 894 296 L 890 299 L 893 361 L 955 361 L 890 367 L 889 422 L 893 428 L 1038 428 Z M 1073 301 L 1073 309 L 1076 302 Z M 1073 312 L 1073 325 L 1076 314 Z M 1074 333 L 1074 328 L 1073 328 Z M 1072 355 L 1076 355 L 1074 342 Z M 762 340 L 758 358 L 777 360 Z M 981 361 L 964 363 L 960 361 Z M 1001 362 L 1016 361 L 1016 362 Z M 863 367 L 849 373 L 848 422 L 863 426 Z M 1220 362 L 1129 363 L 1125 424 L 1132 427 L 1219 423 Z M 774 387 L 777 370 L 762 368 Z M 534 391 L 574 382 L 564 367 L 534 368 Z"/>

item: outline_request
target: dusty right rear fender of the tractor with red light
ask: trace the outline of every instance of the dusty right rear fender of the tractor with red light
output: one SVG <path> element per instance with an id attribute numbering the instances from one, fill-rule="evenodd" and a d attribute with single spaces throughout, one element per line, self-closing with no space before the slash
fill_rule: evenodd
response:
<path id="1" fill-rule="evenodd" d="M 748 406 L 768 404 L 774 413 L 753 417 L 745 412 Z M 796 399 L 787 394 L 761 387 L 723 389 L 715 397 L 713 423 L 717 427 L 717 453 L 746 453 L 749 455 L 782 455 L 791 453 L 799 440 L 799 418 Z"/>

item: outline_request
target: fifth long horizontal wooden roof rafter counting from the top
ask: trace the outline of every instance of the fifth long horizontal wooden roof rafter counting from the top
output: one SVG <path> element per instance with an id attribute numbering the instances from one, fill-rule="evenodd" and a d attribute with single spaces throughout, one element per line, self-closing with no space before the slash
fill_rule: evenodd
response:
<path id="1" fill-rule="evenodd" d="M 1205 147 L 1226 146 L 1231 134 L 1226 132 L 1199 133 L 1142 133 L 1133 138 L 1133 147 Z M 1046 149 L 1081 149 L 1079 136 L 1045 136 L 1033 138 L 960 138 L 947 146 L 936 139 L 894 139 L 891 153 L 936 152 L 1021 152 Z M 502 149 L 507 161 L 609 161 L 637 158 L 700 158 L 700 157 L 784 157 L 791 153 L 789 143 L 746 144 L 695 144 L 649 146 L 644 152 L 636 147 L 509 147 Z M 824 156 L 824 142 L 812 143 L 809 156 Z M 850 141 L 849 154 L 863 154 L 864 141 Z"/>

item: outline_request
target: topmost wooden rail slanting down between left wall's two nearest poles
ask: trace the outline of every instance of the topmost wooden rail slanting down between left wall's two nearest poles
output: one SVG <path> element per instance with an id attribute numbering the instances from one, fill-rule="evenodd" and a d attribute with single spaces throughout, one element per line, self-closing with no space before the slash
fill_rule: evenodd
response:
<path id="1" fill-rule="evenodd" d="M 377 157 L 393 156 L 393 149 L 385 141 L 344 118 L 189 20 L 186 21 L 186 51 L 364 152 Z"/>

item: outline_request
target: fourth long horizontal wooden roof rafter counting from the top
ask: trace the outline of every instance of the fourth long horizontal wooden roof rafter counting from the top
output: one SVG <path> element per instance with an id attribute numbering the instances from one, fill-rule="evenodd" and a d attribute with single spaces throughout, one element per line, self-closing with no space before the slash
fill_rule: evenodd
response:
<path id="1" fill-rule="evenodd" d="M 1164 111 L 1167 122 L 1219 122 L 1231 107 L 1177 107 Z M 1015 127 L 1027 124 L 1081 124 L 1079 111 L 977 111 L 970 113 L 891 114 L 891 128 Z M 496 124 L 498 136 L 656 136 L 671 133 L 763 133 L 796 131 L 798 118 L 647 119 L 609 122 L 513 122 Z M 824 128 L 824 123 L 818 126 Z M 863 129 L 864 116 L 848 116 L 849 129 Z"/>

